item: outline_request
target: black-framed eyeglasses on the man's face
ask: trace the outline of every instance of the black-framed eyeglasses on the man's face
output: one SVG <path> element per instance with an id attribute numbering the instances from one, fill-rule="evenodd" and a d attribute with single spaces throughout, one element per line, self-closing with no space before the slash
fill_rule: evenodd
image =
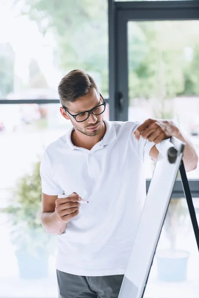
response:
<path id="1" fill-rule="evenodd" d="M 101 94 L 100 94 L 100 96 L 101 96 Z M 102 97 L 102 99 L 103 99 L 103 97 Z M 83 122 L 89 118 L 91 113 L 95 116 L 102 114 L 105 111 L 105 105 L 106 105 L 106 102 L 103 99 L 103 102 L 100 105 L 98 105 L 97 107 L 93 108 L 92 110 L 78 113 L 76 115 L 72 115 L 64 106 L 62 106 L 62 107 L 64 108 L 65 112 L 67 114 L 69 114 L 70 116 L 72 116 L 77 122 Z"/>

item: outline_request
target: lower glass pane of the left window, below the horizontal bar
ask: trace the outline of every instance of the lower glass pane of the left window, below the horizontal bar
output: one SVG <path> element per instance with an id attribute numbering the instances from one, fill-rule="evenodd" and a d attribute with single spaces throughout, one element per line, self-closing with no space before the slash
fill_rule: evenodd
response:
<path id="1" fill-rule="evenodd" d="M 57 238 L 40 223 L 39 162 L 72 127 L 59 107 L 0 105 L 0 297 L 57 297 Z M 107 104 L 104 119 L 108 114 Z"/>

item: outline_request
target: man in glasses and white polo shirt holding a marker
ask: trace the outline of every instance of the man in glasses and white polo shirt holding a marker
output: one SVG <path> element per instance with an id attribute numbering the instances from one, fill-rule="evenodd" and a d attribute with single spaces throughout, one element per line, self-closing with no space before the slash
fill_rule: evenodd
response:
<path id="1" fill-rule="evenodd" d="M 171 136 L 186 143 L 187 171 L 198 156 L 172 121 L 103 120 L 106 103 L 84 71 L 64 76 L 58 92 L 73 129 L 48 146 L 40 172 L 42 224 L 59 234 L 59 297 L 116 298 L 146 197 L 144 159 Z"/>

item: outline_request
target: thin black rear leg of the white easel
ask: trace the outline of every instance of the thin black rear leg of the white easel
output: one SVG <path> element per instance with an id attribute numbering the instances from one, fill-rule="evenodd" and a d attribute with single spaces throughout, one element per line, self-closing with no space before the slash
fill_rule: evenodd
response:
<path id="1" fill-rule="evenodd" d="M 193 204 L 193 200 L 192 200 L 192 194 L 191 194 L 191 190 L 190 190 L 190 186 L 189 186 L 189 182 L 188 182 L 188 179 L 187 179 L 187 174 L 186 174 L 186 171 L 185 171 L 185 166 L 184 166 L 183 161 L 182 161 L 181 166 L 180 166 L 180 174 L 181 174 L 181 179 L 182 179 L 182 183 L 183 183 L 183 189 L 184 189 L 185 197 L 186 197 L 186 200 L 187 200 L 187 205 L 188 205 L 191 220 L 192 220 L 192 225 L 193 225 L 193 228 L 194 228 L 196 242 L 197 242 L 198 249 L 199 249 L 199 225 L 198 225 L 198 222 L 197 222 L 196 212 L 195 212 L 195 208 L 194 208 L 194 204 Z"/>

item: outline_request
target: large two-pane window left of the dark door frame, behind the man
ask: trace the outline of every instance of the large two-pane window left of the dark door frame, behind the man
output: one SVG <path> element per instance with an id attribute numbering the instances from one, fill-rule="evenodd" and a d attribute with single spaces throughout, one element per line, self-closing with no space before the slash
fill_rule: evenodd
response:
<path id="1" fill-rule="evenodd" d="M 44 148 L 71 128 L 57 86 L 85 69 L 108 96 L 107 2 L 54 3 L 0 2 L 0 296 L 57 297 L 56 236 L 40 224 L 39 177 Z"/>

